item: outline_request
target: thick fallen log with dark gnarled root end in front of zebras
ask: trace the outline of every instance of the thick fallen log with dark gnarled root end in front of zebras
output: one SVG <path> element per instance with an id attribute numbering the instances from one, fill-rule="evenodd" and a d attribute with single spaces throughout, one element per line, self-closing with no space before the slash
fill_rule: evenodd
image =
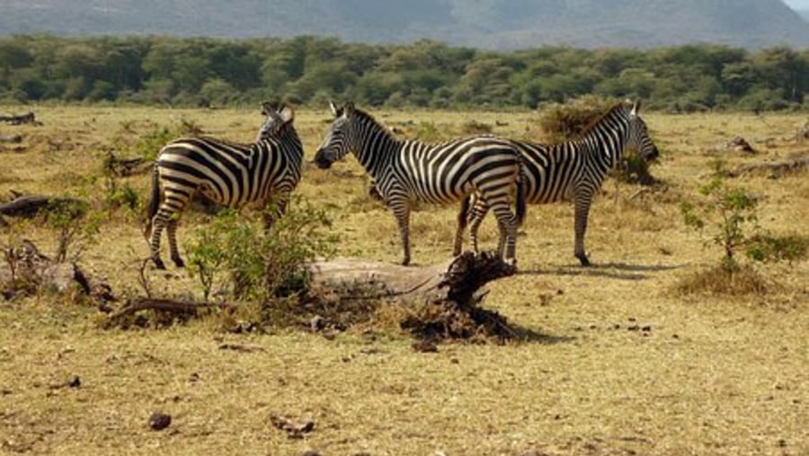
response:
<path id="1" fill-rule="evenodd" d="M 516 267 L 505 264 L 499 255 L 467 252 L 447 263 L 424 267 L 341 258 L 316 262 L 308 269 L 307 300 L 315 301 L 308 308 L 317 312 L 318 300 L 325 302 L 319 304 L 324 316 L 317 314 L 313 330 L 340 329 L 345 313 L 349 319 L 357 319 L 354 313 L 366 313 L 372 319 L 376 305 L 389 302 L 405 309 L 399 326 L 423 339 L 485 342 L 531 335 L 512 327 L 497 312 L 478 307 L 485 298 L 480 291 L 486 283 L 516 273 Z"/>

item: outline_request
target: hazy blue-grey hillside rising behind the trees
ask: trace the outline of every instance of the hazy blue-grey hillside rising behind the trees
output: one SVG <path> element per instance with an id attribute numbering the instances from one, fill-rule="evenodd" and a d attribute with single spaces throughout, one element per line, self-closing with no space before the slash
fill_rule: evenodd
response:
<path id="1" fill-rule="evenodd" d="M 805 12 L 809 13 L 809 12 Z M 490 49 L 715 42 L 809 47 L 781 0 L 3 0 L 0 35 L 422 38 Z"/>

